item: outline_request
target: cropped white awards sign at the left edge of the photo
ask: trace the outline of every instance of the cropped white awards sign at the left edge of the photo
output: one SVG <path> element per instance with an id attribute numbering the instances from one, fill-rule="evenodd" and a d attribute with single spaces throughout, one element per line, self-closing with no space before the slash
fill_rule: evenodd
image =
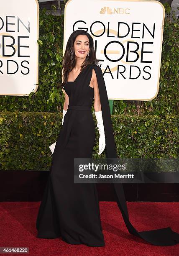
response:
<path id="1" fill-rule="evenodd" d="M 0 95 L 38 89 L 38 1 L 0 1 Z"/>

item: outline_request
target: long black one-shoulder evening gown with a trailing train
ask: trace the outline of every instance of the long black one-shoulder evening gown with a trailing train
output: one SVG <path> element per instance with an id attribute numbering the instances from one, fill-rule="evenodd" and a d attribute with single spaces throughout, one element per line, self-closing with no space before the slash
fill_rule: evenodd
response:
<path id="1" fill-rule="evenodd" d="M 95 70 L 105 129 L 105 155 L 117 158 L 110 108 L 102 70 L 88 65 L 64 90 L 69 106 L 56 141 L 49 179 L 36 219 L 38 238 L 57 238 L 70 244 L 104 246 L 96 184 L 74 183 L 74 158 L 92 158 L 95 123 L 91 106 L 94 89 L 89 86 Z M 129 221 L 123 184 L 114 183 L 116 201 L 130 234 L 158 246 L 179 243 L 179 234 L 171 228 L 138 232 Z"/>

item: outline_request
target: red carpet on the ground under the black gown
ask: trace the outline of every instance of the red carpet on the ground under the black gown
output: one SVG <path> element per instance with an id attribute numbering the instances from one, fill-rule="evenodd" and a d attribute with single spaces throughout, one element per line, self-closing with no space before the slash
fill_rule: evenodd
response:
<path id="1" fill-rule="evenodd" d="M 28 255 L 33 256 L 179 255 L 179 244 L 153 246 L 130 235 L 116 202 L 100 202 L 105 247 L 70 245 L 61 238 L 36 238 L 39 205 L 40 202 L 0 202 L 0 247 L 29 247 Z M 127 202 L 127 205 L 131 223 L 138 231 L 169 226 L 179 233 L 179 202 Z"/>

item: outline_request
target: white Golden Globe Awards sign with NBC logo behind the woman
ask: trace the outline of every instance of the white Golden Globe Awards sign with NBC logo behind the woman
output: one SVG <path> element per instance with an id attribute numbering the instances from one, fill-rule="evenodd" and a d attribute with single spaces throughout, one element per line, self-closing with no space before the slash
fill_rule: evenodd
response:
<path id="1" fill-rule="evenodd" d="M 64 51 L 73 31 L 87 31 L 94 40 L 109 100 L 155 98 L 159 91 L 164 6 L 153 0 L 85 0 L 87 10 L 81 10 L 80 2 L 84 3 L 69 0 L 65 5 Z"/>

